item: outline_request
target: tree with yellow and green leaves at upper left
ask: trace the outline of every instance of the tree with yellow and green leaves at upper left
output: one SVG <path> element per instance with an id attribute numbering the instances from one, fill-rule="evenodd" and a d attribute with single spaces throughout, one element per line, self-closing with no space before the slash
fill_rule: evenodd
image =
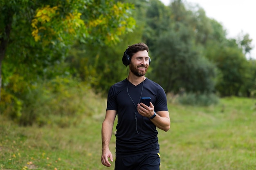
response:
<path id="1" fill-rule="evenodd" d="M 131 9 L 115 0 L 0 0 L 0 83 L 5 56 L 43 73 L 65 58 L 75 40 L 119 41 L 134 28 Z"/>

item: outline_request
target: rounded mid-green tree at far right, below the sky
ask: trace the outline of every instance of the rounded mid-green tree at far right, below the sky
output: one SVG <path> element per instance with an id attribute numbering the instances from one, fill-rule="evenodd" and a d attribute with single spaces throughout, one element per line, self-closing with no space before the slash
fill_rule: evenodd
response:
<path id="1" fill-rule="evenodd" d="M 228 40 L 216 46 L 214 53 L 208 51 L 207 57 L 220 70 L 220 76 L 216 83 L 216 90 L 222 96 L 240 95 L 241 88 L 246 82 L 248 61 L 242 50 L 238 48 L 235 40 Z M 245 93 L 242 93 L 245 94 Z"/>

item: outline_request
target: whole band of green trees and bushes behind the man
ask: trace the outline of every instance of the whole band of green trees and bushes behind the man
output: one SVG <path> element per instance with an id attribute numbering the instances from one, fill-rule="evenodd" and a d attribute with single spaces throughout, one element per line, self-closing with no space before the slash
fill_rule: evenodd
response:
<path id="1" fill-rule="evenodd" d="M 166 93 L 185 89 L 184 103 L 209 105 L 212 92 L 255 97 L 249 35 L 228 39 L 202 8 L 171 2 L 0 0 L 1 115 L 22 125 L 77 124 L 94 111 L 78 101 L 124 79 L 121 57 L 137 42 L 150 49 L 147 76 Z"/>

